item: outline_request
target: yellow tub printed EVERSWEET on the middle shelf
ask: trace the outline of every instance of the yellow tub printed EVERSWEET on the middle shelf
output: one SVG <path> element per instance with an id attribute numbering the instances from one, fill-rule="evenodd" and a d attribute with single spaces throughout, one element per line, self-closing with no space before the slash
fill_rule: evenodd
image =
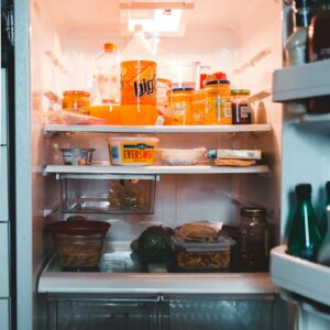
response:
<path id="1" fill-rule="evenodd" d="M 156 151 L 156 138 L 109 138 L 112 165 L 151 165 Z"/>

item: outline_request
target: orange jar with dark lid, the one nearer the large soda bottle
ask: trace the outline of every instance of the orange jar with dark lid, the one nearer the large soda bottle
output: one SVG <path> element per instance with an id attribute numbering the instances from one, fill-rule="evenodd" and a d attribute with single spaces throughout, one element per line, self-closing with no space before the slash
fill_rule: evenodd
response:
<path id="1" fill-rule="evenodd" d="M 191 96 L 194 88 L 174 88 L 172 90 L 172 124 L 191 124 Z"/>

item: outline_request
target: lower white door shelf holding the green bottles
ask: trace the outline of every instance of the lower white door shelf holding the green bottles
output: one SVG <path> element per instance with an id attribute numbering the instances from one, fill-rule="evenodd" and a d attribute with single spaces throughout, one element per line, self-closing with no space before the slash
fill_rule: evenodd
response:
<path id="1" fill-rule="evenodd" d="M 272 282 L 288 292 L 330 306 L 330 267 L 285 253 L 286 245 L 271 252 Z"/>

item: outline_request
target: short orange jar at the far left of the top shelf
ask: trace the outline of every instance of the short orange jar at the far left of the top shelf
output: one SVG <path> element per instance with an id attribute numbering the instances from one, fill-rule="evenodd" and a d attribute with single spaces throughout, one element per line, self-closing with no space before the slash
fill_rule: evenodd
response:
<path id="1" fill-rule="evenodd" d="M 65 90 L 63 92 L 62 108 L 88 114 L 89 92 L 84 90 Z"/>

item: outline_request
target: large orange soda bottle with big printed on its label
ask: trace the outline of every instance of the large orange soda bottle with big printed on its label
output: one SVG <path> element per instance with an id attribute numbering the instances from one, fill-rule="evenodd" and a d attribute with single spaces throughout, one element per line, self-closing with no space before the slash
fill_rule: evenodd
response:
<path id="1" fill-rule="evenodd" d="M 142 26 L 122 53 L 120 118 L 124 125 L 154 125 L 156 108 L 156 62 Z"/>

